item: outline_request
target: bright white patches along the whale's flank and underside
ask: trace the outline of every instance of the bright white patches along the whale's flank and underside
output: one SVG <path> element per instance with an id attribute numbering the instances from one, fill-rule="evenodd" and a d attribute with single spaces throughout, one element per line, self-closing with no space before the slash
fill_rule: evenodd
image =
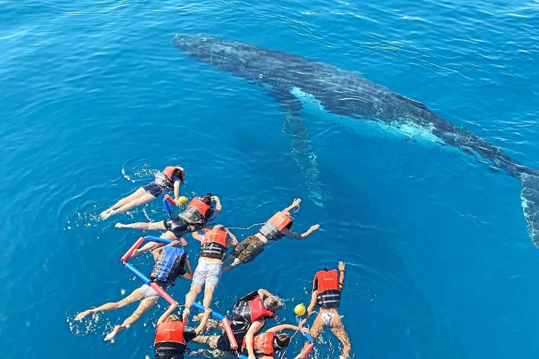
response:
<path id="1" fill-rule="evenodd" d="M 290 93 L 296 96 L 296 98 L 298 98 L 306 108 L 308 107 L 308 105 L 310 105 L 310 107 L 313 107 L 314 105 L 316 109 L 326 114 L 329 114 L 326 108 L 324 108 L 322 103 L 318 99 L 316 99 L 314 95 L 310 93 L 306 93 L 301 88 L 296 87 L 296 86 L 290 89 Z M 343 100 L 365 101 L 361 98 L 347 98 Z M 374 129 L 375 132 L 377 133 L 386 134 L 389 132 L 392 134 L 397 134 L 399 136 L 405 136 L 406 138 L 421 139 L 421 140 L 426 140 L 429 142 L 439 142 L 440 140 L 438 139 L 438 137 L 436 137 L 432 133 L 432 130 L 434 129 L 434 126 L 432 124 L 430 124 L 430 126 L 426 128 L 426 127 L 417 125 L 417 123 L 411 120 L 394 121 L 388 124 L 382 121 L 374 121 L 374 120 L 369 120 L 369 119 L 365 119 L 361 121 L 361 120 L 353 119 L 346 116 L 337 116 L 337 117 L 339 119 L 343 119 L 343 118 L 349 119 L 350 121 L 347 121 L 347 122 L 350 122 L 353 128 L 357 127 L 358 123 L 361 123 L 363 128 L 365 127 L 365 125 L 367 125 L 367 127 Z M 381 129 L 383 130 L 382 132 L 380 131 Z M 361 134 L 367 134 L 368 132 L 370 131 L 365 132 L 363 129 L 360 130 Z"/>

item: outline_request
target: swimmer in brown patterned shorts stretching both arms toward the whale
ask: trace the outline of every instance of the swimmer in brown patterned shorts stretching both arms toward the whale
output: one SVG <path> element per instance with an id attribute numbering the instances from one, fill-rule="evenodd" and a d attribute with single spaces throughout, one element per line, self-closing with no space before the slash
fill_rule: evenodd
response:
<path id="1" fill-rule="evenodd" d="M 241 241 L 231 253 L 232 257 L 235 257 L 234 260 L 230 265 L 227 265 L 224 270 L 230 270 L 230 268 L 237 266 L 240 263 L 249 263 L 253 261 L 260 253 L 264 252 L 264 246 L 268 241 L 278 240 L 283 236 L 303 239 L 307 238 L 310 233 L 319 229 L 320 224 L 315 224 L 310 226 L 310 228 L 302 234 L 291 231 L 294 218 L 292 218 L 289 211 L 299 207 L 300 203 L 301 198 L 294 199 L 294 202 L 292 202 L 291 205 L 269 218 L 257 234 L 253 234 L 253 236 L 249 236 Z"/>

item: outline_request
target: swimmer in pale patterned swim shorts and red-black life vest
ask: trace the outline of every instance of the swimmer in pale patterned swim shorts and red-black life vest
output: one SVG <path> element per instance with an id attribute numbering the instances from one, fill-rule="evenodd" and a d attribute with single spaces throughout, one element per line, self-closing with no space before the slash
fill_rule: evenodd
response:
<path id="1" fill-rule="evenodd" d="M 223 274 L 223 260 L 226 257 L 226 251 L 231 246 L 236 246 L 238 240 L 223 225 L 213 226 L 213 229 L 207 230 L 204 234 L 193 232 L 193 238 L 201 241 L 201 250 L 198 254 L 198 265 L 193 273 L 191 289 L 185 295 L 185 308 L 183 310 L 183 321 L 189 321 L 190 308 L 197 295 L 204 288 L 203 306 L 211 306 L 213 291 L 217 287 L 221 275 Z"/>

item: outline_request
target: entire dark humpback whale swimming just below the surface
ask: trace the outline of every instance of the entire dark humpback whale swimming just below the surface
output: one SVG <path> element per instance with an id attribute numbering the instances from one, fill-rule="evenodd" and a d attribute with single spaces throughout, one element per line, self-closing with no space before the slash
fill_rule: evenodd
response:
<path id="1" fill-rule="evenodd" d="M 420 129 L 441 145 L 488 160 L 495 169 L 522 181 L 522 207 L 528 234 L 539 247 L 539 171 L 517 163 L 478 135 L 455 126 L 426 105 L 375 84 L 361 75 L 295 54 L 197 34 L 176 35 L 172 44 L 186 56 L 220 68 L 260 85 L 287 112 L 285 131 L 292 136 L 296 160 L 305 172 L 307 185 L 316 194 L 318 169 L 305 123 L 302 101 L 316 101 L 329 113 L 386 128 Z"/>

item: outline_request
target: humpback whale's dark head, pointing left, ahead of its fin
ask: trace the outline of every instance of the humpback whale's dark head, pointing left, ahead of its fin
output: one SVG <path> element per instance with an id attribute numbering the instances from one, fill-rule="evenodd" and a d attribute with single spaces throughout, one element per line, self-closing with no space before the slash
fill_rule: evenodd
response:
<path id="1" fill-rule="evenodd" d="M 268 57 L 268 50 L 262 47 L 202 34 L 176 35 L 171 42 L 186 56 L 240 77 L 258 78 L 261 72 L 286 65 Z"/>

